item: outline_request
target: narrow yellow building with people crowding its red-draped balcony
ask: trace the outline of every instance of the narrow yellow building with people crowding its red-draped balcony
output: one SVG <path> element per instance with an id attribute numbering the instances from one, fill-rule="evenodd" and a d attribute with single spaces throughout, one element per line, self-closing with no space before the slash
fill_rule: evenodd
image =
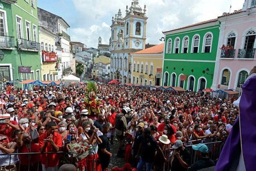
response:
<path id="1" fill-rule="evenodd" d="M 43 81 L 57 81 L 58 73 L 56 71 L 57 55 L 55 51 L 55 34 L 39 26 L 39 39 L 41 42 L 41 74 Z"/>

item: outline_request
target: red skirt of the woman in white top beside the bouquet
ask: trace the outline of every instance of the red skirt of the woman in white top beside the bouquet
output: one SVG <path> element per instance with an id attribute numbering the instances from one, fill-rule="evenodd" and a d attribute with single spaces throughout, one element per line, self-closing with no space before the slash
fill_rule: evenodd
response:
<path id="1" fill-rule="evenodd" d="M 79 168 L 81 171 L 84 168 L 85 168 L 85 171 L 92 171 L 94 167 L 95 171 L 101 171 L 101 165 L 98 161 L 98 158 L 99 158 L 98 153 L 95 155 L 95 162 L 93 158 L 94 158 L 94 155 L 89 155 L 83 160 L 78 161 L 77 168 Z"/>

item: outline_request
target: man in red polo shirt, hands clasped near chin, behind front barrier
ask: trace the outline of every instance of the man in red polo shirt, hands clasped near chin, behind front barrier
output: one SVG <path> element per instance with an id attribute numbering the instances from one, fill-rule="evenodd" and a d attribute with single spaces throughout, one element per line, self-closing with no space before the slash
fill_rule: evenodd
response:
<path id="1" fill-rule="evenodd" d="M 39 149 L 40 152 L 58 152 L 62 146 L 62 137 L 57 132 L 57 124 L 50 122 L 47 124 L 47 131 L 39 137 Z M 53 154 L 42 154 L 40 161 L 42 163 L 42 169 L 46 170 L 58 170 L 59 155 Z"/>

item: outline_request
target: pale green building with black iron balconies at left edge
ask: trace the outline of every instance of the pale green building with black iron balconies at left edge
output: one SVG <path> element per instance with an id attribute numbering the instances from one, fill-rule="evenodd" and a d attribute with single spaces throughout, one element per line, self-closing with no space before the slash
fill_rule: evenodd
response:
<path id="1" fill-rule="evenodd" d="M 13 79 L 41 80 L 38 40 L 37 0 L 0 0 L 1 86 Z"/>

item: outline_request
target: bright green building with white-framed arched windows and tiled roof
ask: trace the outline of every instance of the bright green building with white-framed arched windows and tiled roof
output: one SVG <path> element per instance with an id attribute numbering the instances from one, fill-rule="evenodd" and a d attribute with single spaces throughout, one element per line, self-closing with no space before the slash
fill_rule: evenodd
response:
<path id="1" fill-rule="evenodd" d="M 198 91 L 210 88 L 219 39 L 218 19 L 163 32 L 163 86 Z"/>

